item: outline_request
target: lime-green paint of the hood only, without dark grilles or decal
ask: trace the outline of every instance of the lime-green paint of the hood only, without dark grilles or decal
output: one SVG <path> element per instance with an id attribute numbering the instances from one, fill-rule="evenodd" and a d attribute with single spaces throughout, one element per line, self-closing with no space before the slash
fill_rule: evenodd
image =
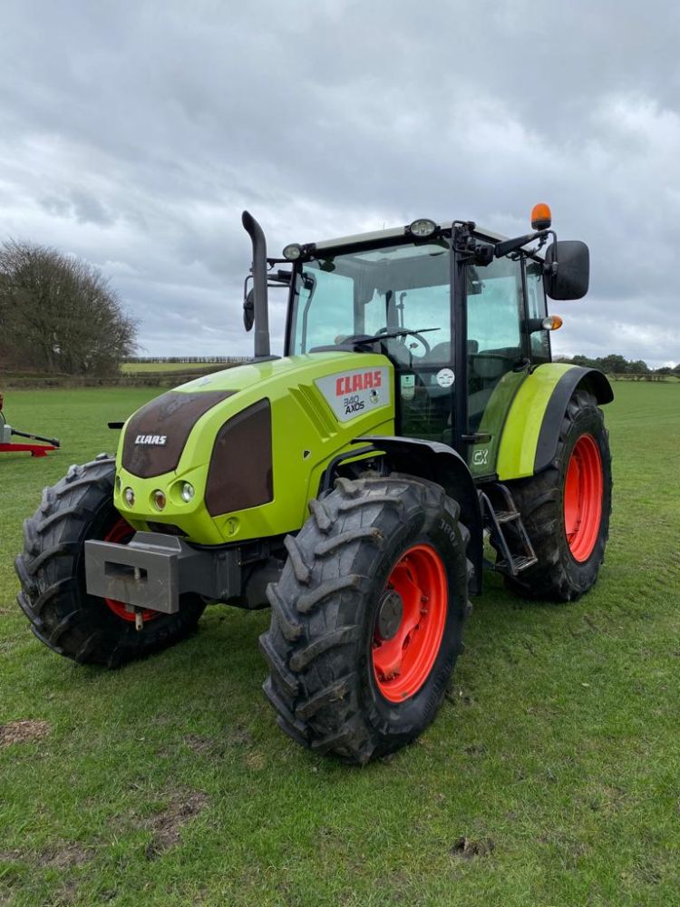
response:
<path id="1" fill-rule="evenodd" d="M 348 422 L 338 421 L 315 380 L 378 367 L 387 368 L 389 373 L 385 402 L 369 406 Z M 121 482 L 117 484 L 114 503 L 135 529 L 147 529 L 147 522 L 174 523 L 199 544 L 247 541 L 296 532 L 306 520 L 307 502 L 316 496 L 321 476 L 333 457 L 351 450 L 353 439 L 363 434 L 394 434 L 393 366 L 385 356 L 377 354 L 329 352 L 290 356 L 229 368 L 175 389 L 180 393 L 201 390 L 237 393 L 201 416 L 189 434 L 177 469 L 155 478 L 141 479 L 121 467 L 123 428 L 117 460 Z M 265 397 L 270 401 L 272 414 L 274 500 L 248 510 L 211 517 L 203 498 L 215 437 L 230 417 Z M 248 457 L 248 451 L 244 450 L 242 455 Z M 190 482 L 196 491 L 189 503 L 180 498 L 183 482 Z M 125 504 L 121 494 L 127 486 L 135 494 L 132 508 Z M 156 489 L 166 494 L 167 504 L 162 512 L 151 503 Z"/>

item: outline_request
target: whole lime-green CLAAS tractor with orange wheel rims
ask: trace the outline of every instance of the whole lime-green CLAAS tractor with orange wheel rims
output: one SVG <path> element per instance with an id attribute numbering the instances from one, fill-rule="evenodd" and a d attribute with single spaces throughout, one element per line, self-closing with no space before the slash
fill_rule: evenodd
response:
<path id="1" fill-rule="evenodd" d="M 545 205 L 515 239 L 418 219 L 283 258 L 243 224 L 254 358 L 112 424 L 115 459 L 45 490 L 19 604 L 50 649 L 112 668 L 183 639 L 210 603 L 268 605 L 279 726 L 364 763 L 432 721 L 485 565 L 544 600 L 597 579 L 613 395 L 551 362 L 546 306 L 586 294 L 588 247 L 558 241 Z M 284 356 L 269 286 L 288 288 Z"/>

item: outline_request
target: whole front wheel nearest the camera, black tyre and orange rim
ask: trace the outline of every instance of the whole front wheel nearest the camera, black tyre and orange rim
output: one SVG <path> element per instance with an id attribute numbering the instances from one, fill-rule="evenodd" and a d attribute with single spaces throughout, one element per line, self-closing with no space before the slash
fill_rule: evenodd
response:
<path id="1" fill-rule="evenodd" d="M 440 485 L 412 476 L 338 479 L 309 509 L 267 590 L 264 690 L 288 736 L 364 763 L 442 702 L 471 610 L 470 533 Z"/>

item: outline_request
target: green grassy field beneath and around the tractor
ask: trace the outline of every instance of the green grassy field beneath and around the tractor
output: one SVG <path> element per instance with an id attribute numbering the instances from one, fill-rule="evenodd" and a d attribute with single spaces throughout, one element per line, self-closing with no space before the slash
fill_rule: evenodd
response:
<path id="1" fill-rule="evenodd" d="M 210 609 L 113 673 L 34 639 L 21 522 L 154 392 L 8 395 L 9 421 L 63 450 L 0 454 L 0 902 L 680 904 L 680 388 L 615 389 L 596 588 L 530 603 L 490 575 L 434 725 L 363 769 L 277 730 L 266 612 Z"/>

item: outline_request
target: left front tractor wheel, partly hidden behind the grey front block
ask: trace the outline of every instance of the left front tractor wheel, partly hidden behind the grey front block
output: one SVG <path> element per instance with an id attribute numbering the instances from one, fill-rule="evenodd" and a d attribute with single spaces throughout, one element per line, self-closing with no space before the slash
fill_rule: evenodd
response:
<path id="1" fill-rule="evenodd" d="M 122 602 L 88 595 L 84 542 L 124 542 L 134 533 L 113 507 L 114 476 L 115 461 L 101 454 L 46 488 L 24 522 L 24 551 L 15 560 L 17 600 L 35 636 L 59 655 L 109 668 L 188 636 L 205 608 L 198 596 L 184 596 L 177 614 L 143 611 L 138 632 Z"/>

